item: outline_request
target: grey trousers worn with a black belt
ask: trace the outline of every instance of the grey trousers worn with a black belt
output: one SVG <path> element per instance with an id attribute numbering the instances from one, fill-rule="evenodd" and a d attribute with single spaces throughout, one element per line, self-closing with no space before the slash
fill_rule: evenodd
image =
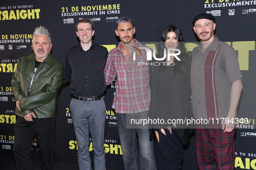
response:
<path id="1" fill-rule="evenodd" d="M 81 101 L 72 98 L 70 110 L 78 142 L 79 170 L 91 170 L 89 129 L 94 148 L 94 169 L 106 170 L 104 151 L 106 106 L 104 97 L 98 101 Z"/>

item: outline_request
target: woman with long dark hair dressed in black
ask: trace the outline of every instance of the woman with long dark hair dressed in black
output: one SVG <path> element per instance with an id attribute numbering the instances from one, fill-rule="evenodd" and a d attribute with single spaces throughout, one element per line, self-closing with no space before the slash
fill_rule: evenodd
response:
<path id="1" fill-rule="evenodd" d="M 165 28 L 157 51 L 157 59 L 152 61 L 150 68 L 149 108 L 150 119 L 162 120 L 152 126 L 152 133 L 155 133 L 156 163 L 159 170 L 180 170 L 183 160 L 182 145 L 188 144 L 190 139 L 190 129 L 181 120 L 191 118 L 192 59 L 185 54 L 184 37 L 175 25 Z"/>

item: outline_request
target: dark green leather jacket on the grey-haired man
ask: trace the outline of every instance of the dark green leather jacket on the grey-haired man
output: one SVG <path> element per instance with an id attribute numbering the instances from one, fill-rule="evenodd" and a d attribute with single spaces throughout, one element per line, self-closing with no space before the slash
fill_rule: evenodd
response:
<path id="1" fill-rule="evenodd" d="M 22 117 L 31 112 L 35 113 L 36 118 L 55 117 L 63 66 L 49 53 L 36 70 L 28 97 L 35 70 L 35 56 L 33 53 L 20 57 L 13 73 L 13 95 L 16 101 L 19 101 L 19 108 L 22 110 L 20 112 L 16 107 L 15 113 Z"/>

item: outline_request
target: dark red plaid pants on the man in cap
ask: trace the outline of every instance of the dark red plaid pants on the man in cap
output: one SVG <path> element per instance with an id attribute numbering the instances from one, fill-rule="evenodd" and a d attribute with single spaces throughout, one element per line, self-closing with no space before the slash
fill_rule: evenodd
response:
<path id="1" fill-rule="evenodd" d="M 199 170 L 233 170 L 235 160 L 235 129 L 195 129 Z"/>

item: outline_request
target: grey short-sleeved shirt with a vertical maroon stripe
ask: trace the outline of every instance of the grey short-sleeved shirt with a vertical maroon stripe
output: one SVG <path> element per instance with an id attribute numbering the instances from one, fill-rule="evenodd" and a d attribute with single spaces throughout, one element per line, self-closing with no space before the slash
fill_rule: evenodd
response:
<path id="1" fill-rule="evenodd" d="M 231 83 L 242 79 L 233 47 L 214 41 L 201 53 L 201 43 L 192 51 L 191 91 L 194 118 L 220 120 L 230 108 Z"/>

